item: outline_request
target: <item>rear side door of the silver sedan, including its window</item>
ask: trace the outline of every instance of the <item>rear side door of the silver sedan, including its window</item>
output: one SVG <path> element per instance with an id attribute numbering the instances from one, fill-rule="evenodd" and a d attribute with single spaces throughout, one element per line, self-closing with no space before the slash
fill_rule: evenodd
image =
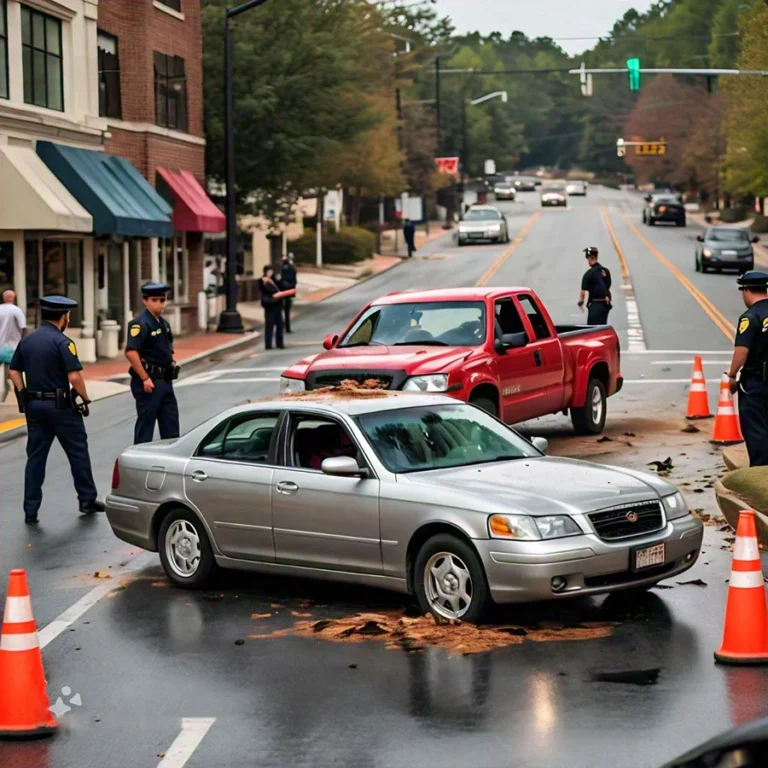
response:
<path id="1" fill-rule="evenodd" d="M 228 557 L 274 562 L 272 485 L 280 411 L 224 420 L 184 470 L 184 491 Z"/>

